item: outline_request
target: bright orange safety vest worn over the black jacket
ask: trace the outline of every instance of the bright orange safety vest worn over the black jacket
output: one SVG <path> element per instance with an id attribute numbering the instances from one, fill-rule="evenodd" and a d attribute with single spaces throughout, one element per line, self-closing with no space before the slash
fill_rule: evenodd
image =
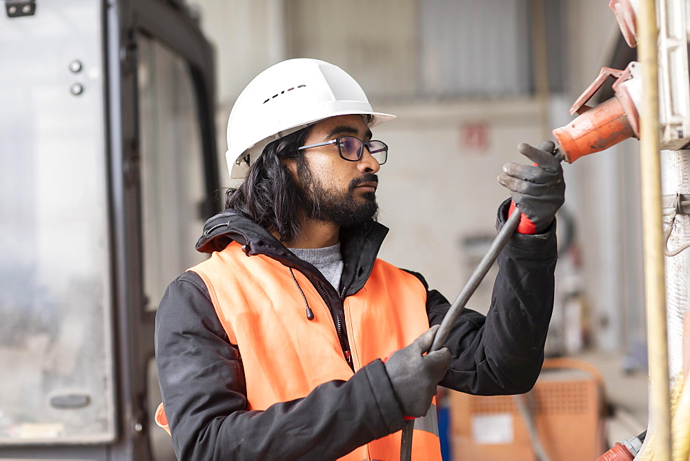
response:
<path id="1" fill-rule="evenodd" d="M 302 293 L 288 268 L 265 255 L 247 257 L 237 242 L 190 271 L 204 280 L 230 342 L 239 347 L 248 410 L 303 398 L 319 384 L 354 374 L 343 357 L 331 311 L 299 271 L 295 277 L 313 320 L 306 318 Z M 426 289 L 417 277 L 376 259 L 364 287 L 344 300 L 355 371 L 424 333 L 429 327 L 425 306 Z M 170 433 L 163 404 L 156 422 Z M 341 459 L 399 460 L 400 435 L 373 440 Z M 435 405 L 415 420 L 412 454 L 415 461 L 441 460 Z"/>

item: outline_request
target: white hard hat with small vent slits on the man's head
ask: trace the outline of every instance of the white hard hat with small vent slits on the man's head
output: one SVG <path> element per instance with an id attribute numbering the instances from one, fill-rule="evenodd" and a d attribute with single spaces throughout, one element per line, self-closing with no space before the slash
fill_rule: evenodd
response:
<path id="1" fill-rule="evenodd" d="M 371 115 L 369 126 L 394 119 L 373 112 L 355 79 L 318 59 L 288 59 L 264 70 L 235 101 L 228 119 L 228 171 L 244 179 L 275 139 L 336 115 Z"/>

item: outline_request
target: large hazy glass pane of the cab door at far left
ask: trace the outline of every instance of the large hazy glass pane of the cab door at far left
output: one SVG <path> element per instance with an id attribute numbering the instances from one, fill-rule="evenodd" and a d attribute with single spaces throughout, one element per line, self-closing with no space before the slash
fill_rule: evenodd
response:
<path id="1" fill-rule="evenodd" d="M 0 14 L 3 445 L 115 438 L 101 5 Z"/>

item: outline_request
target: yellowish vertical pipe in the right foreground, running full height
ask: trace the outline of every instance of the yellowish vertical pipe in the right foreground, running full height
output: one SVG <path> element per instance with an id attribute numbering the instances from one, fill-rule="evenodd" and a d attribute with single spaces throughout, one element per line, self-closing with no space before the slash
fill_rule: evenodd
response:
<path id="1" fill-rule="evenodd" d="M 644 289 L 647 304 L 649 391 L 653 424 L 654 460 L 671 460 L 671 405 L 666 325 L 666 282 L 661 210 L 659 144 L 659 76 L 654 0 L 640 0 L 637 15 L 642 63 L 642 117 L 640 166 L 642 169 L 642 230 L 644 232 Z"/>

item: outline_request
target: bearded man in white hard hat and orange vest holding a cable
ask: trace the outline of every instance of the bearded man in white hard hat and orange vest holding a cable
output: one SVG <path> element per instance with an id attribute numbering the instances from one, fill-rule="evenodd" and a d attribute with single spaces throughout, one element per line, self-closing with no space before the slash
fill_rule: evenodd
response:
<path id="1" fill-rule="evenodd" d="M 210 259 L 170 284 L 157 314 L 157 421 L 180 459 L 394 460 L 408 417 L 413 459 L 439 460 L 437 383 L 483 395 L 533 386 L 553 305 L 559 162 L 523 144 L 540 166 L 504 167 L 533 235 L 504 249 L 487 317 L 465 310 L 447 348 L 424 355 L 449 303 L 376 258 L 388 148 L 371 128 L 391 118 L 314 59 L 278 63 L 239 96 L 227 157 L 244 183 L 204 226 L 197 249 Z"/>

